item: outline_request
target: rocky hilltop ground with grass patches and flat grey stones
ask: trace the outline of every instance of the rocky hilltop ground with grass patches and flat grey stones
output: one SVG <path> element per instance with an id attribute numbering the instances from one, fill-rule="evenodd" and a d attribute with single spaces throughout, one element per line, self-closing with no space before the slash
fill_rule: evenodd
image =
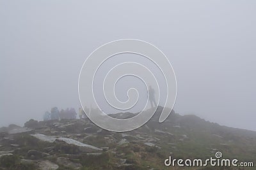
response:
<path id="1" fill-rule="evenodd" d="M 115 117 L 127 115 L 132 113 Z M 24 127 L 2 127 L 0 169 L 184 169 L 165 167 L 164 160 L 169 155 L 208 159 L 218 151 L 223 157 L 255 162 L 256 132 L 195 115 L 172 113 L 162 124 L 157 120 L 156 114 L 139 129 L 123 133 L 105 131 L 88 119 L 29 120 Z"/>

